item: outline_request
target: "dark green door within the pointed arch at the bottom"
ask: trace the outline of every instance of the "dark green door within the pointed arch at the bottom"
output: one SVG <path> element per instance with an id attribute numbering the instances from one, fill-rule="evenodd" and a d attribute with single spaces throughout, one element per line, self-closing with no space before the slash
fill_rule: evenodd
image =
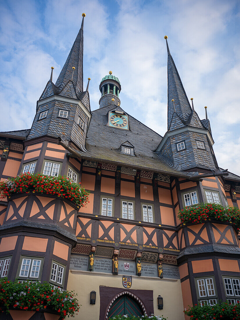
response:
<path id="1" fill-rule="evenodd" d="M 135 299 L 131 293 L 120 295 L 111 303 L 107 313 L 107 319 L 117 315 L 142 316 L 145 313 L 145 308 L 142 308 L 137 300 L 138 299 Z"/>

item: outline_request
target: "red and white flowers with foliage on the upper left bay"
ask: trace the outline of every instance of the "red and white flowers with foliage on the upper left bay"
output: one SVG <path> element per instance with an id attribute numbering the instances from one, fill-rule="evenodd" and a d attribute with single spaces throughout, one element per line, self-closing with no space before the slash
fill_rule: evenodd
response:
<path id="1" fill-rule="evenodd" d="M 80 184 L 74 183 L 66 177 L 45 176 L 39 173 L 21 173 L 17 177 L 0 182 L 0 199 L 29 191 L 61 196 L 81 207 L 89 202 L 88 195 L 90 193 L 80 187 Z"/>

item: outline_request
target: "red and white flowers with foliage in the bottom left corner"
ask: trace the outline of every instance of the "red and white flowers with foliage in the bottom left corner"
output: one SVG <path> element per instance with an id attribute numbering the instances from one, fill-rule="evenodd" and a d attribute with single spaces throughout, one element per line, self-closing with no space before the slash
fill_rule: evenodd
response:
<path id="1" fill-rule="evenodd" d="M 46 308 L 58 312 L 64 319 L 77 315 L 79 304 L 73 291 L 60 291 L 46 282 L 0 280 L 0 312 L 9 313 L 9 309 L 39 311 Z"/>

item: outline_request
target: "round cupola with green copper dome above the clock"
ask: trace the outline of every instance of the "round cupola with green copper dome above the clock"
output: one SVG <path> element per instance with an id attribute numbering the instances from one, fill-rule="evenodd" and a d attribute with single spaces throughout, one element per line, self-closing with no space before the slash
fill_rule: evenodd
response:
<path id="1" fill-rule="evenodd" d="M 100 108 L 113 104 L 120 106 L 119 92 L 121 91 L 121 84 L 116 76 L 112 75 L 112 71 L 109 71 L 109 75 L 102 78 L 99 86 L 101 92 L 101 98 L 99 100 Z"/>

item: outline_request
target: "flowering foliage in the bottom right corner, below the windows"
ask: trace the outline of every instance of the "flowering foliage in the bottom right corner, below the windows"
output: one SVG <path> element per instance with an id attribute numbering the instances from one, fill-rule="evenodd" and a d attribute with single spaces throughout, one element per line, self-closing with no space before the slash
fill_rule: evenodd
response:
<path id="1" fill-rule="evenodd" d="M 240 320 L 240 304 L 219 302 L 214 305 L 195 305 L 184 311 L 191 320 Z"/>

